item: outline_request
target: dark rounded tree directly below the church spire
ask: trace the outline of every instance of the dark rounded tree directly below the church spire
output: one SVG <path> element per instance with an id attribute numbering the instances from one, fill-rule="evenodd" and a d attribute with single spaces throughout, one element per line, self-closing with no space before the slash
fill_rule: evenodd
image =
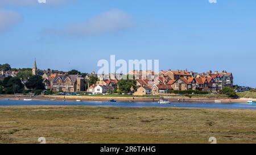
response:
<path id="1" fill-rule="evenodd" d="M 44 83 L 41 76 L 32 76 L 28 79 L 26 82 L 26 87 L 28 89 L 34 89 L 34 90 L 44 90 Z"/>

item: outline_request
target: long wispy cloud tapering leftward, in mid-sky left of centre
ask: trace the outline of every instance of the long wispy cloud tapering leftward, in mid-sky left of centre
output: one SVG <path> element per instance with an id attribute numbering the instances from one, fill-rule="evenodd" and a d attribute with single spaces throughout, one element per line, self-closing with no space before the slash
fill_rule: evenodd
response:
<path id="1" fill-rule="evenodd" d="M 48 30 L 67 36 L 92 36 L 129 28 L 133 25 L 131 17 L 121 10 L 109 10 L 84 22 L 64 26 L 62 30 Z"/>

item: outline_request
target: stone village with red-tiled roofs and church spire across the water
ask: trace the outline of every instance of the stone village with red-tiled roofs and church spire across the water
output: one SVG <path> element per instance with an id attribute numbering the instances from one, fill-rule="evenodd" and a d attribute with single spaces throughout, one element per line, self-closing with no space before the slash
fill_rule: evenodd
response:
<path id="1" fill-rule="evenodd" d="M 16 77 L 18 71 L 1 71 L 0 80 L 6 77 Z M 47 90 L 59 93 L 94 94 L 130 94 L 135 96 L 159 95 L 179 91 L 200 91 L 201 93 L 218 93 L 224 87 L 233 87 L 233 74 L 226 71 L 195 73 L 188 70 L 161 70 L 155 73 L 151 70 L 133 70 L 127 75 L 96 74 L 95 72 L 81 75 L 69 72 L 39 71 L 34 62 L 32 76 L 41 76 L 44 92 Z M 121 89 L 123 77 L 133 77 L 129 89 Z M 91 79 L 94 79 L 93 81 Z M 129 81 L 129 80 L 128 80 Z M 22 80 L 26 88 L 26 79 Z M 127 86 L 126 86 L 127 87 Z"/>

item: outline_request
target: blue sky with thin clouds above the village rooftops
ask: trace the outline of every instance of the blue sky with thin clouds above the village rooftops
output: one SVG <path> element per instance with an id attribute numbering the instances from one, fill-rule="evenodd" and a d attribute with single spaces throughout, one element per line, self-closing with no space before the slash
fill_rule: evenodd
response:
<path id="1" fill-rule="evenodd" d="M 227 70 L 256 87 L 255 0 L 1 0 L 0 64 L 92 72 L 98 60 Z"/>

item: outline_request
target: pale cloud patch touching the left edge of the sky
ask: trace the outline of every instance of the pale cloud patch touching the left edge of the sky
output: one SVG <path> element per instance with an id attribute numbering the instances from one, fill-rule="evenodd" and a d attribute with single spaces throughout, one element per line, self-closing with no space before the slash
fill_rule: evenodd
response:
<path id="1" fill-rule="evenodd" d="M 0 32 L 8 30 L 11 26 L 18 23 L 22 16 L 17 12 L 0 9 Z"/>

